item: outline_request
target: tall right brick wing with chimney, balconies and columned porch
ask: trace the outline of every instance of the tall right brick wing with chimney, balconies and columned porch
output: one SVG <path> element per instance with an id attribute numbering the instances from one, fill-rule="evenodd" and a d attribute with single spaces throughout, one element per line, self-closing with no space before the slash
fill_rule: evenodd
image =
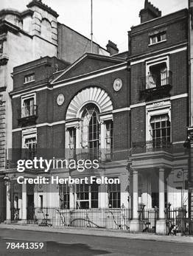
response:
<path id="1" fill-rule="evenodd" d="M 183 148 L 188 122 L 188 12 L 161 17 L 146 1 L 140 15 L 141 24 L 129 32 L 133 149 L 129 162 L 136 218 L 130 228 L 138 229 L 139 203 L 159 208 L 156 231 L 164 233 L 166 207 L 189 208 Z"/>

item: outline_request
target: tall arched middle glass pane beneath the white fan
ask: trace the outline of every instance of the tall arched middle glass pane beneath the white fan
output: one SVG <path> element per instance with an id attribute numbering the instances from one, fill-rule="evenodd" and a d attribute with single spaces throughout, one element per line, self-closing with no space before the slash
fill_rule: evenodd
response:
<path id="1" fill-rule="evenodd" d="M 99 154 L 99 110 L 96 105 L 88 104 L 83 108 L 81 118 L 81 145 L 88 149 L 91 159 Z"/>

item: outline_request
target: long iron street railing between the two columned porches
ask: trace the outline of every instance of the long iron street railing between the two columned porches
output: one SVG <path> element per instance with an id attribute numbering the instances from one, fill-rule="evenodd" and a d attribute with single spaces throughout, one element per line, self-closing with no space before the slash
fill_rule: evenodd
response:
<path id="1" fill-rule="evenodd" d="M 104 229 L 130 228 L 132 210 L 122 208 L 27 208 L 27 223 L 38 226 L 81 226 Z"/>

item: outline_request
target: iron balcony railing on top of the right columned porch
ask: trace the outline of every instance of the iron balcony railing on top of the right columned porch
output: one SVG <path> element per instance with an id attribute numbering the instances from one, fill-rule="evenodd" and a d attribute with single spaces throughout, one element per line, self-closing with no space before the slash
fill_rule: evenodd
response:
<path id="1" fill-rule="evenodd" d="M 150 153 L 156 151 L 167 151 L 172 150 L 172 142 L 166 139 L 153 139 L 143 142 L 133 142 L 132 143 L 132 154 L 135 153 Z"/>

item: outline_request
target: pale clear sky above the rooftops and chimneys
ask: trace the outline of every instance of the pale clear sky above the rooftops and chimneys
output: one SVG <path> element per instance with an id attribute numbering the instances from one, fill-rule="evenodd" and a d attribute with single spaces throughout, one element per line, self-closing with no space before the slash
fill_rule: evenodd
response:
<path id="1" fill-rule="evenodd" d="M 0 10 L 25 10 L 30 0 L 0 0 Z M 91 38 L 91 0 L 42 0 L 58 14 L 58 21 Z M 162 15 L 188 7 L 188 0 L 151 0 Z M 108 40 L 119 52 L 127 50 L 127 31 L 140 23 L 144 0 L 93 0 L 94 41 L 105 48 Z"/>

